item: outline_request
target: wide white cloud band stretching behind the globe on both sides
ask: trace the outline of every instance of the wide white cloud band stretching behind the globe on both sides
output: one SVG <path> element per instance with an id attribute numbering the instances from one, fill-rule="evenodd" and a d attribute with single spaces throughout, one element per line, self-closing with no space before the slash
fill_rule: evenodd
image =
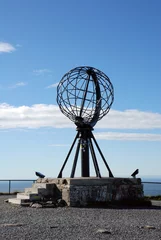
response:
<path id="1" fill-rule="evenodd" d="M 36 104 L 11 106 L 0 104 L 0 128 L 74 128 L 57 105 Z M 139 110 L 111 110 L 96 128 L 105 129 L 161 129 L 161 114 Z"/>

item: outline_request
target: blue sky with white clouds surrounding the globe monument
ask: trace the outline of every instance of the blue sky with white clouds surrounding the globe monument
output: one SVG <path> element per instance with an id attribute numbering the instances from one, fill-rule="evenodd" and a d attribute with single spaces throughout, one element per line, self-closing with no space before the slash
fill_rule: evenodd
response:
<path id="1" fill-rule="evenodd" d="M 56 85 L 84 65 L 114 85 L 94 131 L 113 174 L 161 177 L 160 9 L 160 0 L 1 1 L 0 179 L 57 176 L 76 131 Z M 65 176 L 71 167 L 72 158 Z"/>

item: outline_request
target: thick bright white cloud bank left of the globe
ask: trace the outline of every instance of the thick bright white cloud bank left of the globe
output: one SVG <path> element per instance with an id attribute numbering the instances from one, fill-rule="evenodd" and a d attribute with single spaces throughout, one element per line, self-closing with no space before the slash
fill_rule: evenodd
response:
<path id="1" fill-rule="evenodd" d="M 73 127 L 73 124 L 59 110 L 58 106 L 36 104 L 32 106 L 11 106 L 0 104 L 0 128 Z"/>

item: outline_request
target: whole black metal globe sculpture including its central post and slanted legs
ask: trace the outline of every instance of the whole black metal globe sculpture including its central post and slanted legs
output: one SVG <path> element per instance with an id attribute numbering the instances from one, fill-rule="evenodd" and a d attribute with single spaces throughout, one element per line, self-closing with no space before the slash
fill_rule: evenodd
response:
<path id="1" fill-rule="evenodd" d="M 57 103 L 61 112 L 76 124 L 77 134 L 58 174 L 58 178 L 62 177 L 64 167 L 77 140 L 70 177 L 73 178 L 75 175 L 79 152 L 81 152 L 81 176 L 90 177 L 89 159 L 91 153 L 96 176 L 101 178 L 93 144 L 95 144 L 97 151 L 101 155 L 109 172 L 109 177 L 113 177 L 92 133 L 97 121 L 109 112 L 113 101 L 113 85 L 110 79 L 100 70 L 83 66 L 74 68 L 63 76 L 57 87 Z"/>

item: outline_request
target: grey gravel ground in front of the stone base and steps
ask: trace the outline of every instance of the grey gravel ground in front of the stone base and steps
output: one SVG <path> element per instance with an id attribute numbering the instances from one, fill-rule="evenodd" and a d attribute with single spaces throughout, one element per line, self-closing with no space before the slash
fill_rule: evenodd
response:
<path id="1" fill-rule="evenodd" d="M 36 209 L 5 203 L 7 198 L 0 196 L 0 240 L 161 239 L 161 208 Z"/>

